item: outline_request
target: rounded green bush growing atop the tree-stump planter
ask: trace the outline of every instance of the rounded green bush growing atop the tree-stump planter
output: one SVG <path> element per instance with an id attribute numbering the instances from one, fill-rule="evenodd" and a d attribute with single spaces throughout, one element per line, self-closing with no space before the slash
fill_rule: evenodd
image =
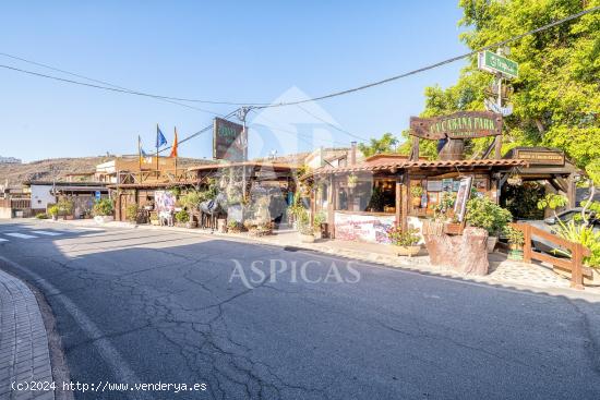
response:
<path id="1" fill-rule="evenodd" d="M 483 228 L 490 235 L 497 235 L 513 220 L 511 211 L 485 196 L 476 196 L 467 202 L 467 222 Z"/>

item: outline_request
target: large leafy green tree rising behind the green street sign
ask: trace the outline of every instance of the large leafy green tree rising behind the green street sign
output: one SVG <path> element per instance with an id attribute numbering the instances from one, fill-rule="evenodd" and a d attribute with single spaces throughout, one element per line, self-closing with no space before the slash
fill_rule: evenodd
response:
<path id="1" fill-rule="evenodd" d="M 552 21 L 600 5 L 600 0 L 460 0 L 460 39 L 478 49 Z M 504 120 L 503 153 L 516 146 L 563 149 L 585 169 L 600 158 L 600 12 L 512 43 L 511 59 L 519 77 L 509 82 L 513 116 Z M 477 69 L 472 57 L 457 83 L 425 89 L 422 117 L 458 110 L 482 110 L 493 76 Z M 469 141 L 470 154 L 481 153 L 490 138 Z M 422 153 L 422 151 L 421 151 Z"/>

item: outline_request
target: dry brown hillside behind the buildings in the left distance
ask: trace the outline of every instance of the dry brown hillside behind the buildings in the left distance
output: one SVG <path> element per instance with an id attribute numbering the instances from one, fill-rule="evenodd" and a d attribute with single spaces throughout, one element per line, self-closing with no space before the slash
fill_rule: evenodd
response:
<path id="1" fill-rule="evenodd" d="M 0 184 L 20 185 L 28 180 L 65 180 L 68 173 L 92 172 L 98 163 L 115 157 L 52 158 L 26 163 L 0 163 Z M 179 158 L 179 166 L 189 167 L 208 162 L 205 159 Z"/>

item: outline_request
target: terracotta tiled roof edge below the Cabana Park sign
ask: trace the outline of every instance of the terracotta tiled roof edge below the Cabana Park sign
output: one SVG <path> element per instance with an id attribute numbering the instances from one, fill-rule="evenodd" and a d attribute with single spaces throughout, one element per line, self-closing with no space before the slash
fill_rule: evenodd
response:
<path id="1" fill-rule="evenodd" d="M 381 171 L 400 168 L 453 168 L 453 167 L 526 167 L 527 162 L 517 159 L 471 159 L 471 160 L 409 160 L 405 157 L 370 158 L 355 166 L 340 168 L 324 167 L 313 171 L 313 174 L 339 172 Z"/>

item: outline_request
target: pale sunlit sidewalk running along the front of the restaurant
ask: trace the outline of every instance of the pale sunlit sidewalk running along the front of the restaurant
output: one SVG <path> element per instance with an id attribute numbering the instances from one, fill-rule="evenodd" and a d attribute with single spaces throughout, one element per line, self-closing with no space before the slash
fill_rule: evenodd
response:
<path id="1" fill-rule="evenodd" d="M 104 226 L 96 225 L 93 220 L 72 220 L 59 221 L 76 225 L 79 227 L 89 228 L 129 228 L 129 229 L 145 229 L 145 230 L 165 230 L 178 231 L 190 234 L 201 234 L 218 237 L 227 240 L 237 240 L 245 242 L 259 242 L 269 245 L 283 247 L 297 247 L 316 251 L 321 253 L 332 254 L 336 256 L 347 257 L 368 263 L 375 263 L 388 267 L 398 267 L 436 276 L 458 278 L 473 282 L 483 282 L 490 284 L 499 284 L 503 287 L 529 287 L 536 289 L 567 289 L 569 280 L 552 271 L 551 267 L 541 264 L 526 264 L 513 262 L 506 258 L 505 254 L 492 253 L 489 254 L 490 274 L 483 277 L 458 274 L 444 267 L 432 266 L 429 264 L 429 256 L 424 255 L 423 250 L 416 257 L 398 257 L 393 254 L 393 247 L 375 244 L 375 243 L 356 243 L 338 240 L 321 240 L 314 243 L 301 243 L 296 231 L 284 229 L 275 231 L 268 237 L 251 237 L 248 233 L 218 233 L 202 229 L 185 229 L 177 227 L 154 227 L 147 225 L 134 226 L 128 222 L 108 222 Z M 585 292 L 600 294 L 600 288 L 586 287 Z"/>

